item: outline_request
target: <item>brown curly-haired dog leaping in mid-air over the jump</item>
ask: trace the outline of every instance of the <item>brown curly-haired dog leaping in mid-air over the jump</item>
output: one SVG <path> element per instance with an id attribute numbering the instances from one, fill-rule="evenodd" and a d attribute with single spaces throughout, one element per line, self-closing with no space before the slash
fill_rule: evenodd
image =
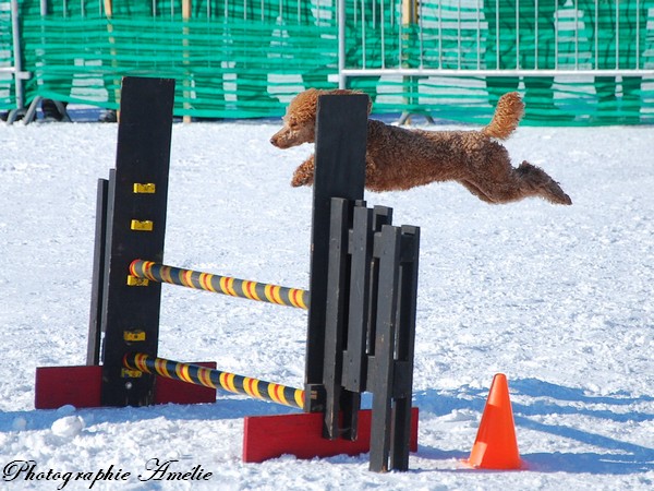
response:
<path id="1" fill-rule="evenodd" d="M 270 139 L 279 148 L 315 141 L 318 96 L 352 91 L 317 91 L 299 94 L 287 108 L 283 128 Z M 368 112 L 370 112 L 368 104 Z M 552 203 L 572 204 L 564 190 L 541 168 L 523 161 L 511 166 L 509 153 L 496 140 L 506 140 L 524 112 L 517 92 L 498 101 L 491 123 L 480 131 L 407 130 L 373 119 L 367 123 L 365 187 L 371 191 L 407 190 L 434 181 L 458 181 L 487 203 L 508 203 L 541 196 Z M 314 157 L 293 173 L 291 184 L 311 185 Z"/>

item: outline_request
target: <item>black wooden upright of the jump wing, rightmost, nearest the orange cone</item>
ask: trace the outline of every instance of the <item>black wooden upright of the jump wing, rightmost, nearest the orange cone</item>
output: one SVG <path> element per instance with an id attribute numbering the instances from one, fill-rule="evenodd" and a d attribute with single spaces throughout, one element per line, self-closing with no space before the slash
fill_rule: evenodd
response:
<path id="1" fill-rule="evenodd" d="M 368 390 L 373 393 L 370 469 L 409 468 L 420 228 L 384 225 L 376 333 Z"/>

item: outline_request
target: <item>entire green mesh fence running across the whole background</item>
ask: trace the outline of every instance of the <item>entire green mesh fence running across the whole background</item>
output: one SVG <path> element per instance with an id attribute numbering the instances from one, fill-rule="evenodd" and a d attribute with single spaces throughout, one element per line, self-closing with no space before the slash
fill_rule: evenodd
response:
<path id="1" fill-rule="evenodd" d="M 536 21 L 526 0 L 346 0 L 346 69 L 386 70 L 351 73 L 348 85 L 373 96 L 378 113 L 483 123 L 501 93 L 519 89 L 528 123 L 652 123 L 653 1 L 541 0 Z M 116 109 L 121 77 L 149 75 L 177 80 L 177 116 L 270 117 L 306 87 L 337 84 L 336 0 L 48 0 L 46 12 L 40 0 L 19 4 L 27 103 Z M 12 65 L 8 13 L 0 0 L 0 68 Z M 616 69 L 650 72 L 591 72 Z M 1 72 L 0 105 L 15 105 Z"/>

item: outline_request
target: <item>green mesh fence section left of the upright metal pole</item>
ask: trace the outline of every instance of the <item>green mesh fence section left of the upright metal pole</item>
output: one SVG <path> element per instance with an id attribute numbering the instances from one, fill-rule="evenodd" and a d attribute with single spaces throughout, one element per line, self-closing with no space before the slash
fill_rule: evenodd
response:
<path id="1" fill-rule="evenodd" d="M 281 22 L 272 3 L 257 3 L 256 15 L 244 5 L 196 2 L 183 19 L 181 2 L 117 2 L 110 15 L 97 1 L 69 2 L 41 16 L 39 1 L 23 0 L 27 98 L 117 109 L 122 76 L 166 76 L 177 80 L 175 115 L 246 118 L 282 113 L 299 85 L 328 86 L 332 23 L 319 25 L 304 7 Z"/>

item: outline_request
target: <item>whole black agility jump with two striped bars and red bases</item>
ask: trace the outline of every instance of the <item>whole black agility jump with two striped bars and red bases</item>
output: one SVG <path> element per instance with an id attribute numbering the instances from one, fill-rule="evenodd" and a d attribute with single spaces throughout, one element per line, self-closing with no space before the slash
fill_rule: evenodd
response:
<path id="1" fill-rule="evenodd" d="M 318 103 L 306 291 L 164 264 L 173 94 L 172 80 L 123 80 L 117 165 L 98 181 L 86 366 L 38 368 L 35 406 L 215 403 L 221 387 L 304 411 L 245 418 L 244 462 L 370 451 L 371 470 L 407 470 L 420 229 L 363 201 L 367 97 Z M 158 358 L 161 283 L 308 310 L 304 388 Z"/>

